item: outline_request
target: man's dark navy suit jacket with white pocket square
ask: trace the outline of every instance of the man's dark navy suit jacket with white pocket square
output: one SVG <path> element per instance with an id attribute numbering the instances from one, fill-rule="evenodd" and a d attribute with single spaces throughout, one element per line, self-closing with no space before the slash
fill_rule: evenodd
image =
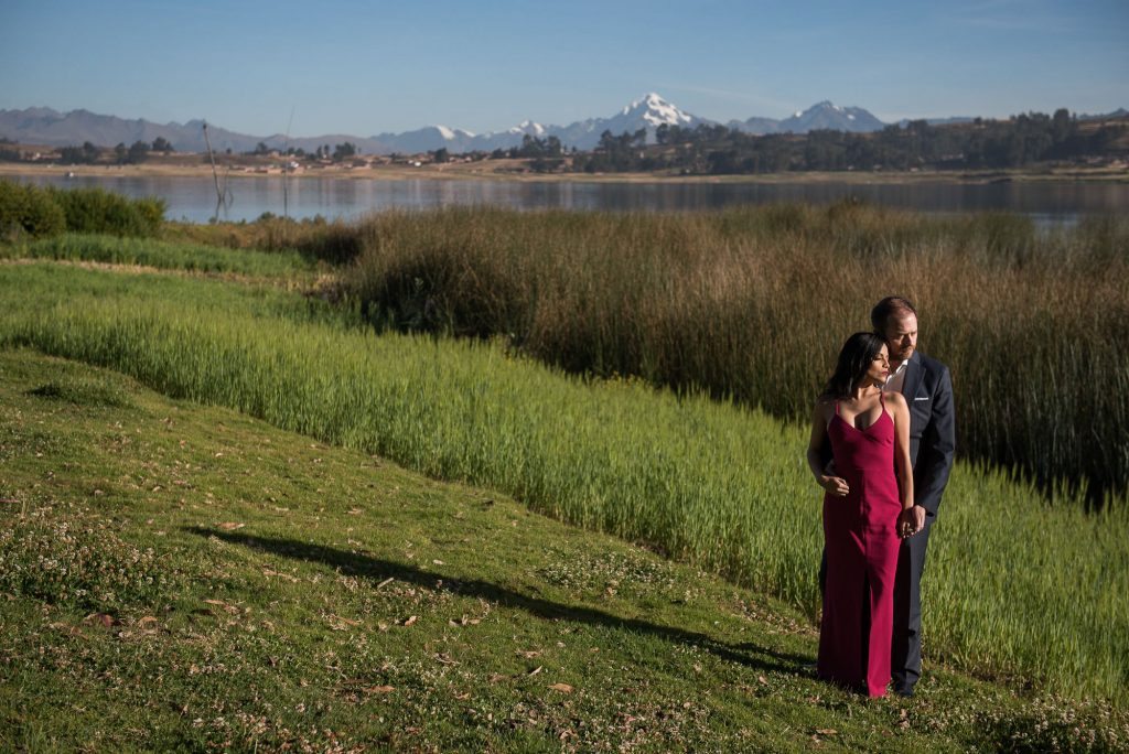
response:
<path id="1" fill-rule="evenodd" d="M 913 502 L 936 516 L 956 448 L 953 382 L 948 368 L 913 351 L 905 365 L 902 395 L 910 406 Z"/>

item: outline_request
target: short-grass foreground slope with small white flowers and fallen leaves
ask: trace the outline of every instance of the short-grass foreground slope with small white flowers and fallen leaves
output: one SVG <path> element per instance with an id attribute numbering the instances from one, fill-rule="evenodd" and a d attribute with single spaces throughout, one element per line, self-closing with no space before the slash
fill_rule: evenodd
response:
<path id="1" fill-rule="evenodd" d="M 0 748 L 1041 749 L 1129 734 L 944 669 L 910 703 L 846 694 L 804 670 L 815 633 L 779 603 L 114 372 L 0 353 Z"/>

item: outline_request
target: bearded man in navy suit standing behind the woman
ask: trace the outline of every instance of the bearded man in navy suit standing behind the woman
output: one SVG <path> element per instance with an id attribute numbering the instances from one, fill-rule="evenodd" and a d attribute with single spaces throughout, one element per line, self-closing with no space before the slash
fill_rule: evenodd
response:
<path id="1" fill-rule="evenodd" d="M 890 667 L 894 692 L 911 696 L 921 677 L 925 551 L 953 467 L 953 383 L 945 365 L 917 350 L 917 310 L 910 301 L 896 296 L 882 299 L 870 310 L 870 324 L 886 340 L 890 351 L 890 377 L 883 389 L 898 391 L 910 407 L 910 461 L 918 533 L 905 536 L 898 553 Z"/>

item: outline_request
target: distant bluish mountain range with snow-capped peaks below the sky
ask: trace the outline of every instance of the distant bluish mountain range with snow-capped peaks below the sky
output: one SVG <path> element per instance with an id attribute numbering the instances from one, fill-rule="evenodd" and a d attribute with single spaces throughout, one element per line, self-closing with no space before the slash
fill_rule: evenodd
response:
<path id="1" fill-rule="evenodd" d="M 1118 117 L 1126 114 L 1124 108 L 1120 108 L 1104 116 L 1079 117 Z M 960 123 L 971 120 L 971 117 L 948 117 L 933 119 L 929 122 L 934 124 Z M 524 121 L 505 131 L 480 134 L 444 125 L 430 125 L 414 131 L 380 133 L 368 138 L 343 133 L 290 138 L 275 133 L 268 137 L 256 137 L 209 124 L 208 137 L 211 140 L 212 149 L 220 152 L 227 149 L 236 152 L 252 151 L 260 142 L 274 149 L 285 149 L 289 146 L 314 151 L 325 144 L 332 148 L 348 141 L 356 144 L 360 152 L 369 155 L 393 152 L 411 155 L 441 148 L 446 148 L 452 154 L 458 154 L 473 150 L 508 149 L 519 146 L 525 134 L 539 139 L 557 137 L 564 147 L 587 150 L 599 142 L 599 135 L 604 131 L 611 131 L 619 135 L 624 131 L 634 133 L 645 129 L 648 141 L 653 142 L 655 130 L 664 123 L 692 129 L 703 123 L 716 122 L 691 115 L 657 94 L 648 94 L 610 117 L 576 121 L 569 125 L 542 125 L 534 121 Z M 904 123 L 905 121 L 902 121 L 902 124 Z M 146 120 L 130 121 L 113 115 L 98 115 L 86 109 L 76 109 L 69 113 L 59 113 L 47 107 L 0 109 L 0 137 L 19 143 L 46 147 L 65 147 L 81 144 L 86 141 L 99 147 L 113 147 L 119 143 L 129 146 L 135 141 L 152 142 L 159 137 L 172 143 L 177 151 L 202 152 L 205 151 L 203 125 L 202 120 L 189 121 L 184 124 L 159 124 Z M 746 121 L 729 121 L 726 125 L 746 133 L 767 134 L 807 133 L 816 129 L 866 133 L 879 131 L 887 124 L 861 107 L 840 107 L 831 102 L 821 102 L 784 120 L 750 117 Z"/>

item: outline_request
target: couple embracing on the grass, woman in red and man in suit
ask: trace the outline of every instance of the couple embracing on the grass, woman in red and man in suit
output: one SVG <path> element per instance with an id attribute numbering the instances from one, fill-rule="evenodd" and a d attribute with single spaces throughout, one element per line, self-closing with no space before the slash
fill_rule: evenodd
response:
<path id="1" fill-rule="evenodd" d="M 917 351 L 917 310 L 884 298 L 815 403 L 807 463 L 823 498 L 821 678 L 883 696 L 921 677 L 921 571 L 953 465 L 953 386 Z"/>

